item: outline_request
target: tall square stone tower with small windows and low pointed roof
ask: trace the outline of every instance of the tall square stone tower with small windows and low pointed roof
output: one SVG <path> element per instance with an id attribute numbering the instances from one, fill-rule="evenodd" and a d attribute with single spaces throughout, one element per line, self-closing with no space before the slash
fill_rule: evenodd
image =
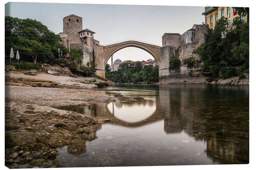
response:
<path id="1" fill-rule="evenodd" d="M 68 35 L 70 43 L 81 43 L 79 31 L 82 30 L 82 17 L 69 15 L 63 18 L 63 34 Z"/>

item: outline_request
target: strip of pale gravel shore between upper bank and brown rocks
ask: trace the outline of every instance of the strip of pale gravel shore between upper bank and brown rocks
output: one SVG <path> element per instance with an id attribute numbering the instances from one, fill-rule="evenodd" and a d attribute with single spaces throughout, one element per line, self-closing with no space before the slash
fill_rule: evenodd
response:
<path id="1" fill-rule="evenodd" d="M 93 102 L 114 100 L 104 91 L 26 86 L 6 86 L 5 99 L 8 103 L 16 102 L 50 107 L 88 105 Z"/>

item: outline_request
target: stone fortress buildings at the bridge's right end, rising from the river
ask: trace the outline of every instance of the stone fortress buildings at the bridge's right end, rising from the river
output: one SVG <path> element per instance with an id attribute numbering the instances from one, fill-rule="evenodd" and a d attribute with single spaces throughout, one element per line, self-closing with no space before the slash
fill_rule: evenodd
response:
<path id="1" fill-rule="evenodd" d="M 189 57 L 200 59 L 196 54 L 196 49 L 204 43 L 204 34 L 207 32 L 208 25 L 194 25 L 182 35 L 178 33 L 164 33 L 162 36 L 161 65 L 159 67 L 160 82 L 183 82 L 189 78 L 190 68 L 183 64 L 183 60 Z M 169 69 L 170 56 L 176 56 L 181 60 L 180 69 Z M 179 78 L 179 79 L 177 79 Z M 202 79 L 204 78 L 197 78 Z M 195 81 L 194 79 L 189 79 Z"/>

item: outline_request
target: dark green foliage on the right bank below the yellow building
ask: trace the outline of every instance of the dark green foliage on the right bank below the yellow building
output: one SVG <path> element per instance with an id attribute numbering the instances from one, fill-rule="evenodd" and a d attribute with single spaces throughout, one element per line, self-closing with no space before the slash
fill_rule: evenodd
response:
<path id="1" fill-rule="evenodd" d="M 205 43 L 197 48 L 203 61 L 203 69 L 211 77 L 224 79 L 238 76 L 249 69 L 249 23 L 237 17 L 230 29 L 226 28 L 226 18 L 217 21 L 214 30 L 205 34 Z M 234 66 L 242 68 L 236 70 Z M 228 69 L 226 69 L 228 68 Z"/>

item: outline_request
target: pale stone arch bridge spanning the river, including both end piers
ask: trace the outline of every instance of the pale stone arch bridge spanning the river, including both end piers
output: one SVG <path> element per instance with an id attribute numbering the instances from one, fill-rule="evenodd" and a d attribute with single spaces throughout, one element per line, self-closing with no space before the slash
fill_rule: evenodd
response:
<path id="1" fill-rule="evenodd" d="M 105 78 L 105 65 L 110 59 L 110 57 L 116 53 L 117 51 L 121 50 L 122 48 L 125 47 L 138 47 L 141 48 L 142 50 L 150 53 L 155 60 L 157 61 L 157 64 L 160 69 L 165 69 L 163 68 L 163 59 L 162 59 L 162 47 L 158 45 L 153 45 L 153 44 L 148 44 L 140 41 L 124 41 L 116 44 L 111 44 L 111 45 L 99 45 L 94 48 L 94 56 L 95 56 L 95 68 L 96 72 L 95 74 L 97 76 Z M 168 66 L 167 66 L 168 69 Z M 159 74 L 160 75 L 160 74 Z"/>

